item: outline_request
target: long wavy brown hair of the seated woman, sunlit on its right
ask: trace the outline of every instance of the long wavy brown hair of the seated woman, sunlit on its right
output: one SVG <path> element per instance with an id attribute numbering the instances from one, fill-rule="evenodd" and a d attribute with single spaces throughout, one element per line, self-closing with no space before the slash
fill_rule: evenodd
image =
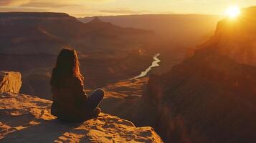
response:
<path id="1" fill-rule="evenodd" d="M 65 48 L 57 56 L 55 67 L 52 69 L 51 86 L 63 87 L 62 79 L 67 77 L 76 77 L 81 84 L 84 83 L 84 77 L 80 73 L 80 63 L 75 49 Z"/>

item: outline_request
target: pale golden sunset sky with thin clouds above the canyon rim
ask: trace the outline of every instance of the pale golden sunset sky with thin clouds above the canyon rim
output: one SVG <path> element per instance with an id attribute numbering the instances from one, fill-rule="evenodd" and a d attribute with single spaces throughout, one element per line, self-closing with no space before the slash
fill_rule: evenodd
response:
<path id="1" fill-rule="evenodd" d="M 0 12 L 65 12 L 75 17 L 128 14 L 219 14 L 256 0 L 0 0 Z"/>

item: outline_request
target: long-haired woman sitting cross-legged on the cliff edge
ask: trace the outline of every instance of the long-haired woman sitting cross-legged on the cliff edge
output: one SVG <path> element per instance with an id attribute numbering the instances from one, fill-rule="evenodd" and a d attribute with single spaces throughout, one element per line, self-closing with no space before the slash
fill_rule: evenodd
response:
<path id="1" fill-rule="evenodd" d="M 83 121 L 100 114 L 103 89 L 96 89 L 88 97 L 85 94 L 80 64 L 75 49 L 62 49 L 52 70 L 52 110 L 51 113 L 69 122 Z"/>

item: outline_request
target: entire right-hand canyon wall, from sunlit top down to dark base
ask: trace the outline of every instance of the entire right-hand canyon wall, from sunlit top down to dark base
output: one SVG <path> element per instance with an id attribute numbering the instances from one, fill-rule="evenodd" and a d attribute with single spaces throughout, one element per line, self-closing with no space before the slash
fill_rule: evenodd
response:
<path id="1" fill-rule="evenodd" d="M 134 112 L 122 117 L 154 127 L 164 142 L 256 142 L 256 67 L 241 59 L 254 55 L 255 14 L 252 7 L 220 21 L 181 64 L 151 75 Z"/>

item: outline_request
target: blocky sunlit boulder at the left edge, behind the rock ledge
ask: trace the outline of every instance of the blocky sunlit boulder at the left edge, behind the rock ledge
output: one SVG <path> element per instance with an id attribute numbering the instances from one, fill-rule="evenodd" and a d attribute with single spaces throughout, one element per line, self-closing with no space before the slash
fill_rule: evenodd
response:
<path id="1" fill-rule="evenodd" d="M 0 71 L 0 93 L 19 93 L 22 87 L 22 75 L 14 71 Z"/>

